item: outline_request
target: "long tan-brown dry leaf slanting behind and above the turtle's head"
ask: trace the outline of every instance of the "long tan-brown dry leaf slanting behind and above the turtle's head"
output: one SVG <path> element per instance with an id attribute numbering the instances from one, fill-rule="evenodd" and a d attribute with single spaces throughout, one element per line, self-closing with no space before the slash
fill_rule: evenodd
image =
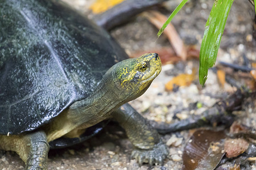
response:
<path id="1" fill-rule="evenodd" d="M 167 17 L 158 11 L 143 12 L 142 15 L 147 18 L 152 24 L 154 24 L 155 27 L 158 29 L 160 29 L 164 22 L 166 22 L 167 20 Z M 185 59 L 187 58 L 187 50 L 183 44 L 183 41 L 180 39 L 179 34 L 171 23 L 168 24 L 168 26 L 164 30 L 164 34 L 168 37 L 168 40 L 174 48 L 177 56 L 180 56 L 181 59 L 185 61 Z"/>

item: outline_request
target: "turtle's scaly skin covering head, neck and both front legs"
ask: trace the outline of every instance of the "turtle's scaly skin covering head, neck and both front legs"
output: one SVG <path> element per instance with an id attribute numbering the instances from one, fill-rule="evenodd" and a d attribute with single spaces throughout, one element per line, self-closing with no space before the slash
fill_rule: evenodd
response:
<path id="1" fill-rule="evenodd" d="M 27 169 L 46 169 L 48 142 L 65 135 L 76 137 L 81 129 L 115 118 L 127 131 L 135 146 L 133 157 L 140 164 L 163 163 L 168 154 L 167 148 L 144 118 L 137 112 L 127 112 L 131 111 L 130 108 L 114 112 L 121 105 L 141 96 L 160 71 L 160 58 L 155 53 L 121 61 L 106 72 L 97 90 L 88 98 L 73 103 L 45 125 L 42 131 L 0 135 L 0 148 L 16 151 L 26 163 Z"/>

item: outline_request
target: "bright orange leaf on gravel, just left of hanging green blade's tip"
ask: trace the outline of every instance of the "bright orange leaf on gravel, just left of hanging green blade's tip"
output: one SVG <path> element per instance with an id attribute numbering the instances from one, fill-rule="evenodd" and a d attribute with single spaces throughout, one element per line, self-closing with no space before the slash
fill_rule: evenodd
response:
<path id="1" fill-rule="evenodd" d="M 168 83 L 166 83 L 166 91 L 172 91 L 174 86 L 189 86 L 196 78 L 196 70 L 193 69 L 192 74 L 179 74 Z"/>

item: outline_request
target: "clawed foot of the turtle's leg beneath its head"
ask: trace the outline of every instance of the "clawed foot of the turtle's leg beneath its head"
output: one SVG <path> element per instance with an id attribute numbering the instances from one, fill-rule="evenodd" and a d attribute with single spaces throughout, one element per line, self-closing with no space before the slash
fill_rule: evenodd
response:
<path id="1" fill-rule="evenodd" d="M 159 142 L 150 150 L 135 149 L 131 153 L 131 159 L 136 159 L 139 165 L 149 163 L 150 165 L 163 165 L 163 160 L 168 155 L 167 146 L 163 142 Z"/>

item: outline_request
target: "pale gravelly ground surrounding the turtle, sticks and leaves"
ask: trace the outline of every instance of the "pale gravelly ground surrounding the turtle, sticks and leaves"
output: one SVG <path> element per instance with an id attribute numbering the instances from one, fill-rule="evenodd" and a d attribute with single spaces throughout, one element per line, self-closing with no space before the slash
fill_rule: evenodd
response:
<path id="1" fill-rule="evenodd" d="M 72 5 L 86 13 L 89 3 L 92 1 L 76 0 Z M 171 10 L 177 3 L 177 1 L 171 1 L 166 6 Z M 173 24 L 186 45 L 192 44 L 200 49 L 205 22 L 212 4 L 213 1 L 191 1 L 175 16 Z M 249 2 L 234 1 L 217 61 L 242 64 L 243 54 L 252 61 L 256 61 L 255 42 L 254 44 L 252 42 L 253 16 L 251 14 L 253 14 L 253 6 Z M 146 19 L 138 16 L 130 23 L 115 28 L 111 33 L 128 54 L 133 54 L 141 50 L 151 52 L 151 49 L 156 47 L 170 46 L 165 36 L 161 36 L 156 41 L 157 31 Z M 164 90 L 164 84 L 174 76 L 180 73 L 191 73 L 193 68 L 199 68 L 197 59 L 164 65 L 162 73 L 154 80 L 147 92 L 130 104 L 150 120 L 170 123 L 192 114 L 201 114 L 219 99 L 236 91 L 236 88 L 228 83 L 221 87 L 212 70 L 209 70 L 204 88 L 196 79 L 190 86 L 180 87 L 176 92 Z M 197 102 L 202 103 L 203 107 L 191 109 L 191 105 Z M 242 111 L 236 112 L 238 120 L 254 128 L 256 128 L 255 103 L 255 98 L 250 97 L 244 101 Z M 181 169 L 183 148 L 190 135 L 191 131 L 164 135 L 163 140 L 168 141 L 169 144 L 172 143 L 170 155 L 164 161 L 164 165 L 149 167 L 144 164 L 139 167 L 135 160 L 130 159 L 133 146 L 123 130 L 117 125 L 110 125 L 102 133 L 80 145 L 51 150 L 48 167 L 49 169 Z M 14 152 L 1 151 L 0 169 L 24 169 L 24 163 Z M 251 162 L 251 169 L 256 169 L 255 161 Z"/>

